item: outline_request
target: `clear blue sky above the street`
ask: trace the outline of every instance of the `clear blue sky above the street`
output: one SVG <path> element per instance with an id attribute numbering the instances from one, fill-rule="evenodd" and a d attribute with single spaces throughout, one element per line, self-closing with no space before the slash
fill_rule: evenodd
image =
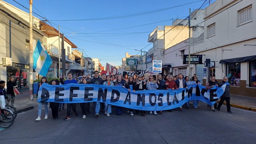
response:
<path id="1" fill-rule="evenodd" d="M 29 0 L 4 0 L 28 12 Z M 211 0 L 213 3 L 215 0 Z M 102 66 L 122 65 L 125 52 L 140 55 L 153 43 L 148 35 L 157 26 L 171 26 L 185 19 L 205 0 L 33 0 L 33 16 L 48 24 L 73 42 L 85 57 L 99 58 Z M 189 4 L 191 3 L 191 4 Z M 209 6 L 206 0 L 204 7 Z M 135 49 L 135 50 L 134 50 Z"/>

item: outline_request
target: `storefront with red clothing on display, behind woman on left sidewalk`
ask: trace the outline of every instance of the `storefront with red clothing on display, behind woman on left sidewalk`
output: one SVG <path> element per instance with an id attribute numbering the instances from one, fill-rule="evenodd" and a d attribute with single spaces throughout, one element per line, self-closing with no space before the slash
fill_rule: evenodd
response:
<path id="1" fill-rule="evenodd" d="M 7 81 L 11 76 L 15 76 L 15 82 L 18 85 L 18 89 L 24 89 L 29 87 L 27 78 L 29 77 L 29 65 L 12 63 L 12 66 L 6 67 L 6 79 Z"/>

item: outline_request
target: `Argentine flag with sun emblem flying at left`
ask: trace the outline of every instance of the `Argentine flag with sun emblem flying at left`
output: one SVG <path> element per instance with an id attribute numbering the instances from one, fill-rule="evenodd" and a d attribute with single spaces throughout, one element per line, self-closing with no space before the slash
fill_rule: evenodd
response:
<path id="1" fill-rule="evenodd" d="M 52 59 L 38 39 L 36 48 L 33 52 L 33 59 L 33 68 L 35 71 L 41 76 L 46 76 L 48 69 L 52 64 Z"/>

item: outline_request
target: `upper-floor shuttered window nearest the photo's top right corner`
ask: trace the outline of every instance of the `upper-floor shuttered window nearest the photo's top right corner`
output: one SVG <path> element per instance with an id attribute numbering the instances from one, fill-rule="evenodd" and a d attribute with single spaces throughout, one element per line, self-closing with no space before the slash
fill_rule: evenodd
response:
<path id="1" fill-rule="evenodd" d="M 252 21 L 252 5 L 239 11 L 239 25 Z"/>

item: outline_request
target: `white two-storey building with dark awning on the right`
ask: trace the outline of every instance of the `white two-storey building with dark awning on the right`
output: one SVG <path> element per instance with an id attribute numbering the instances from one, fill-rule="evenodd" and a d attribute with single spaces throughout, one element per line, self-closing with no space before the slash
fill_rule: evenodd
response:
<path id="1" fill-rule="evenodd" d="M 255 0 L 215 1 L 205 8 L 204 40 L 191 46 L 191 54 L 211 59 L 210 76 L 218 82 L 228 76 L 230 93 L 251 97 L 256 97 L 255 4 Z M 203 71 L 199 69 L 193 72 Z"/>

